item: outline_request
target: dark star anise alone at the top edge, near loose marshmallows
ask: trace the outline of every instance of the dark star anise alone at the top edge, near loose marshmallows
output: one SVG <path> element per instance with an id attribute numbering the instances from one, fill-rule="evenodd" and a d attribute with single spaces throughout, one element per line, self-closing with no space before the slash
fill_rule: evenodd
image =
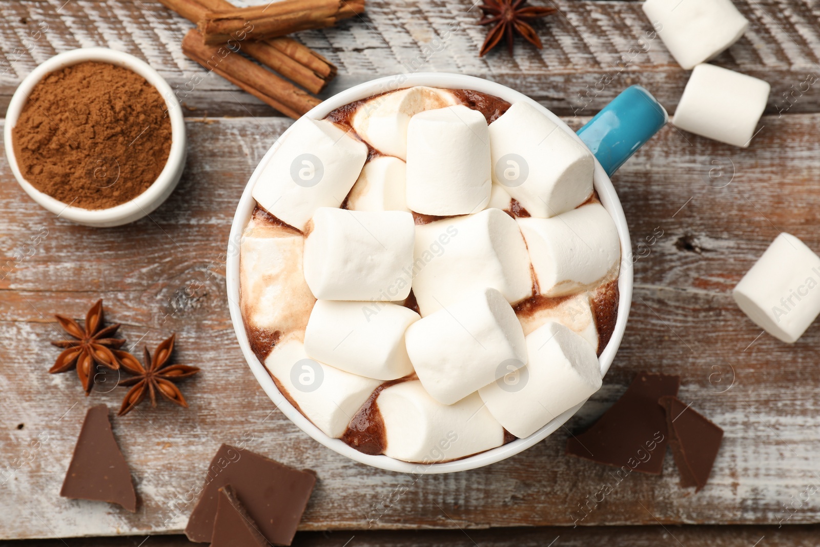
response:
<path id="1" fill-rule="evenodd" d="M 544 47 L 541 45 L 538 33 L 527 21 L 549 16 L 558 11 L 557 8 L 527 6 L 526 0 L 485 0 L 485 2 L 481 5 L 485 18 L 478 21 L 478 24 L 490 25 L 490 23 L 493 23 L 494 26 L 487 33 L 484 43 L 481 44 L 479 57 L 484 57 L 485 53 L 494 48 L 503 36 L 507 37 L 507 46 L 510 55 L 512 55 L 513 31 L 521 34 L 526 41 L 536 48 L 541 49 Z"/>

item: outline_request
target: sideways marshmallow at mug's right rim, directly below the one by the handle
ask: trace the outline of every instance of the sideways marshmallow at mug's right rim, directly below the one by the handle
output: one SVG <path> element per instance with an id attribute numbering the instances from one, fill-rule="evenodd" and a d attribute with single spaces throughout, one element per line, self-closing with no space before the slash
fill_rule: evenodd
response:
<path id="1" fill-rule="evenodd" d="M 519 218 L 518 226 L 540 294 L 577 293 L 617 276 L 621 242 L 615 222 L 599 203 L 553 218 Z"/>

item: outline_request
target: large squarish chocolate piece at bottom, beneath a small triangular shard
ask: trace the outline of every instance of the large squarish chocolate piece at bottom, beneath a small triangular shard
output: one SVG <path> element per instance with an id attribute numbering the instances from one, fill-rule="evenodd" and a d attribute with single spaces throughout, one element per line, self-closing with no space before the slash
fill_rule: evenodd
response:
<path id="1" fill-rule="evenodd" d="M 231 485 L 262 536 L 274 545 L 290 545 L 315 484 L 312 471 L 299 471 L 222 444 L 207 469 L 203 493 L 191 513 L 185 535 L 191 541 L 212 540 L 219 489 Z"/>

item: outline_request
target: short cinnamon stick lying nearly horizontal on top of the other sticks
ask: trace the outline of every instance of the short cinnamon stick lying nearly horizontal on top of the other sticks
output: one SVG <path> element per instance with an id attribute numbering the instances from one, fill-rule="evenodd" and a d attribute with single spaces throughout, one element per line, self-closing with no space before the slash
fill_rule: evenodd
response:
<path id="1" fill-rule="evenodd" d="M 365 0 L 282 0 L 265 6 L 209 11 L 198 22 L 205 43 L 225 43 L 237 34 L 251 39 L 323 29 L 364 11 Z"/>

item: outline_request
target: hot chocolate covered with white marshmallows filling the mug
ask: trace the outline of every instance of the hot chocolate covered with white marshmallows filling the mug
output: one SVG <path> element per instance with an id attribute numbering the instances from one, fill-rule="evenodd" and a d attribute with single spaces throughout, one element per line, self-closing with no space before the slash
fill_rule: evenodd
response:
<path id="1" fill-rule="evenodd" d="M 254 353 L 365 454 L 443 462 L 531 435 L 599 389 L 617 317 L 593 167 L 529 103 L 466 89 L 300 119 L 241 244 Z"/>

